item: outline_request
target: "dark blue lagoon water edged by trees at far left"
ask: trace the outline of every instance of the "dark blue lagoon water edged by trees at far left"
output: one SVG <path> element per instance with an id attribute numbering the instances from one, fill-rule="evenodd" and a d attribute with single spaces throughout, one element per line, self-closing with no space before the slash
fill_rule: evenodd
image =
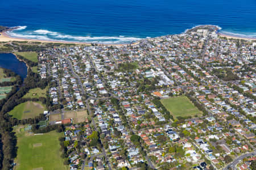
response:
<path id="1" fill-rule="evenodd" d="M 0 53 L 0 67 L 10 69 L 20 75 L 22 79 L 27 76 L 27 66 L 24 62 L 19 61 L 14 54 Z"/>

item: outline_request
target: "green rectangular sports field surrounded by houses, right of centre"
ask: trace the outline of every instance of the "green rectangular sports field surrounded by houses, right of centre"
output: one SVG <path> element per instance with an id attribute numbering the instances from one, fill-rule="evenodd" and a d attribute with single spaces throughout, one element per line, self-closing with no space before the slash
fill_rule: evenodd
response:
<path id="1" fill-rule="evenodd" d="M 170 97 L 169 99 L 162 99 L 160 101 L 175 118 L 178 116 L 201 116 L 202 114 L 187 96 Z"/>

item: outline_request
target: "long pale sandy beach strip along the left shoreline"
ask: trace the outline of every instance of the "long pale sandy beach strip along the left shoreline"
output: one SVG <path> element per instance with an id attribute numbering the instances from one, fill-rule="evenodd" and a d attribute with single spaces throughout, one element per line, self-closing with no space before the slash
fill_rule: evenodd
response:
<path id="1" fill-rule="evenodd" d="M 47 41 L 47 40 L 34 40 L 34 39 L 22 39 L 10 37 L 5 32 L 0 32 L 0 42 L 9 42 L 9 41 L 28 41 L 28 42 L 52 42 L 52 43 L 63 43 L 63 44 L 82 44 L 82 45 L 91 45 L 88 42 L 72 42 L 72 41 Z M 95 44 L 95 43 L 94 43 Z M 98 44 L 98 45 L 113 45 L 113 46 L 123 46 L 127 44 Z"/>

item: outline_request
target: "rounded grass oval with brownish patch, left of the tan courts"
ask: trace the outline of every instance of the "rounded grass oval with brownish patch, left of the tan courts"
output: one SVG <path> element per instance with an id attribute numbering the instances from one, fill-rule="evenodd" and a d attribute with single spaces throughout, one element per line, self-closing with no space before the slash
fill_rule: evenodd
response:
<path id="1" fill-rule="evenodd" d="M 43 112 L 44 105 L 40 101 L 27 101 L 25 103 L 16 105 L 14 109 L 9 112 L 9 114 L 13 115 L 13 117 L 17 118 L 18 120 L 22 120 L 24 118 L 34 118 Z"/>

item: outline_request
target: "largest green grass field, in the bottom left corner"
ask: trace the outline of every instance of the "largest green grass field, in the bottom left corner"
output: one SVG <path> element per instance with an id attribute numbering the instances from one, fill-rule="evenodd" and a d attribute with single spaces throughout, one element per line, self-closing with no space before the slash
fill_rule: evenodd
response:
<path id="1" fill-rule="evenodd" d="M 68 169 L 60 156 L 59 137 L 63 136 L 63 133 L 57 133 L 54 130 L 42 135 L 34 135 L 19 130 L 19 127 L 16 127 L 14 131 L 18 138 L 15 170 Z"/>

